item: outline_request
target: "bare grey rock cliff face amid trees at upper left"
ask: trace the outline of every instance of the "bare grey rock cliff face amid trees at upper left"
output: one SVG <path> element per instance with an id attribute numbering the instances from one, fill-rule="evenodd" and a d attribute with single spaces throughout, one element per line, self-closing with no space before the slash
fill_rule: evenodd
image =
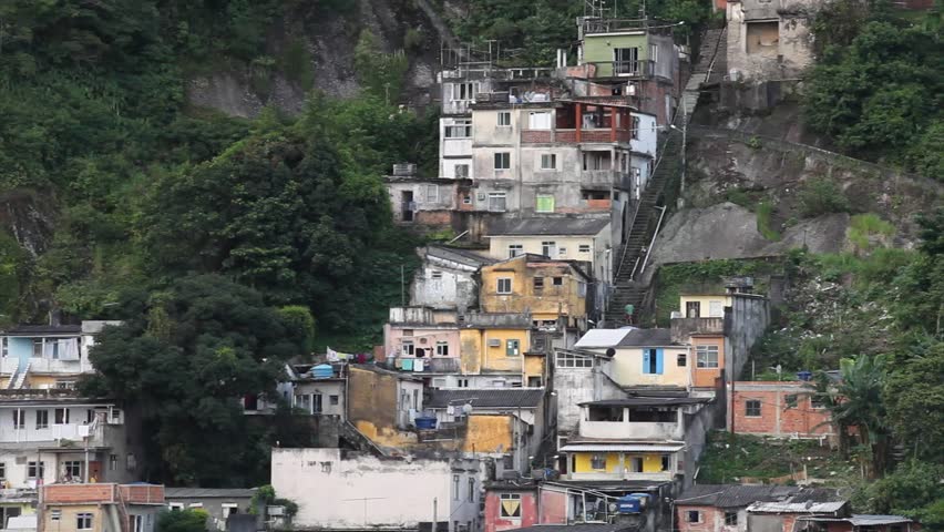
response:
<path id="1" fill-rule="evenodd" d="M 305 68 L 310 69 L 310 76 L 286 71 L 278 61 L 270 69 L 224 62 L 219 70 L 192 76 L 186 88 L 187 99 L 197 106 L 252 117 L 268 104 L 298 113 L 306 93 L 312 89 L 330 96 L 352 98 L 360 90 L 353 53 L 361 30 L 373 33 L 386 52 L 403 49 L 407 32 L 413 30 L 422 37 L 422 42 L 408 50 L 410 69 L 401 101 L 415 106 L 429 103 L 440 42 L 451 37 L 443 33 L 448 31 L 444 24 L 431 20 L 430 14 L 435 14 L 432 6 L 411 0 L 350 1 L 357 7 L 349 12 L 287 13 L 271 29 L 268 57 L 280 58 L 290 47 L 300 47 L 304 51 L 299 55 Z"/>

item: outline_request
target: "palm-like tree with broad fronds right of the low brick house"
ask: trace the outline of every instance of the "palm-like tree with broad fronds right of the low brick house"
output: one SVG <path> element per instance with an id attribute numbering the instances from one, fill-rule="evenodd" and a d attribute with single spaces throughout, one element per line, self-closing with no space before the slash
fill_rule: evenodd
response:
<path id="1" fill-rule="evenodd" d="M 885 383 L 884 355 L 843 358 L 840 360 L 841 380 L 832 391 L 829 408 L 840 427 L 855 427 L 871 453 L 874 474 L 885 470 L 889 453 L 883 388 Z"/>

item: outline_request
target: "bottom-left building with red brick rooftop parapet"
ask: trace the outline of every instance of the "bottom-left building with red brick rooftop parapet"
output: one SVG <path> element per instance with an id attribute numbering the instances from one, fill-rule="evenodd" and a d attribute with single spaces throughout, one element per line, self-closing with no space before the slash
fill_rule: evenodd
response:
<path id="1" fill-rule="evenodd" d="M 39 532 L 154 532 L 164 510 L 160 484 L 48 484 Z"/>

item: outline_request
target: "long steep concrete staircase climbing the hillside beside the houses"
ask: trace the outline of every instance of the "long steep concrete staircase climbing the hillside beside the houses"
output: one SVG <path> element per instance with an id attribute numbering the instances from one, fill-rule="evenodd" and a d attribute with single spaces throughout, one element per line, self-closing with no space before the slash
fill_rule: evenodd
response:
<path id="1" fill-rule="evenodd" d="M 629 235 L 618 249 L 619 255 L 617 255 L 614 264 L 616 272 L 614 291 L 609 297 L 604 318 L 606 327 L 615 328 L 626 325 L 624 309 L 626 305 L 630 304 L 636 309 L 634 324 L 650 325 L 647 323 L 648 316 L 644 308 L 646 294 L 649 290 L 647 277 L 643 275 L 644 266 L 647 266 L 646 253 L 656 231 L 658 231 L 663 207 L 669 207 L 669 205 L 665 205 L 666 200 L 674 197 L 675 187 L 678 185 L 683 170 L 683 150 L 685 149 L 681 130 L 687 127 L 691 113 L 698 104 L 701 85 L 718 81 L 724 76 L 726 54 L 726 28 L 705 30 L 698 52 L 698 62 L 694 65 L 691 76 L 683 92 L 681 106 L 673 121 L 674 127 L 667 130 L 667 137 L 661 146 L 653 178 L 639 200 Z"/>

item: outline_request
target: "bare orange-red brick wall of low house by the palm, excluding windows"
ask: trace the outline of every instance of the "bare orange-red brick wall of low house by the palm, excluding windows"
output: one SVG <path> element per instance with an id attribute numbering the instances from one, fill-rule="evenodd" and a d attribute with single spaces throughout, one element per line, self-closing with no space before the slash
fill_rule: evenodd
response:
<path id="1" fill-rule="evenodd" d="M 772 385 L 771 382 L 766 382 Z M 814 409 L 811 406 L 809 389 L 799 386 L 784 386 L 780 390 L 739 390 L 738 386 L 747 382 L 736 382 L 731 408 L 735 413 L 735 431 L 747 434 L 772 434 L 813 438 L 833 432 L 828 423 L 831 419 L 829 410 Z M 797 406 L 788 408 L 787 396 L 796 395 Z M 746 416 L 749 400 L 760 401 L 760 417 Z"/>

